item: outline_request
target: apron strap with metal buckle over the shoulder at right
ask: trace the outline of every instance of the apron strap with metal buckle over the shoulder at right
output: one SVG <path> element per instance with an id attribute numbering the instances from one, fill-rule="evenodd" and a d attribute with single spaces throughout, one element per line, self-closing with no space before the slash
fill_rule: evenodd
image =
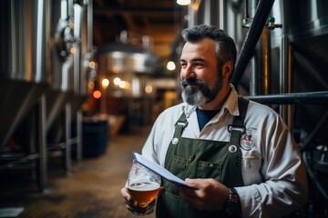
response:
<path id="1" fill-rule="evenodd" d="M 247 113 L 247 107 L 250 103 L 250 100 L 239 96 L 238 97 L 238 106 L 240 115 L 235 116 L 232 124 L 228 125 L 228 131 L 231 133 L 231 138 L 229 141 L 229 145 L 240 145 L 241 135 L 246 132 L 246 127 L 244 126 L 244 120 Z"/>

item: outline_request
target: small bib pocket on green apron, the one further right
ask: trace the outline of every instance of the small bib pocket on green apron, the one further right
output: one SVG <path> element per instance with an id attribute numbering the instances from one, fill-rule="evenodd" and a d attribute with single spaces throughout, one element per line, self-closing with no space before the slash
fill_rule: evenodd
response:
<path id="1" fill-rule="evenodd" d="M 199 161 L 197 178 L 213 178 L 220 181 L 221 169 L 221 163 Z"/>

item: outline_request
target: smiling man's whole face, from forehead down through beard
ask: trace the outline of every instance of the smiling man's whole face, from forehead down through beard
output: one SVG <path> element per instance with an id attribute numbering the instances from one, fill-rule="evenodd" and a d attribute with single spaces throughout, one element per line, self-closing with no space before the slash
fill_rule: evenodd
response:
<path id="1" fill-rule="evenodd" d="M 188 42 L 182 49 L 180 86 L 182 99 L 187 104 L 208 104 L 220 92 L 222 76 L 215 46 L 214 40 L 205 38 L 197 43 Z"/>

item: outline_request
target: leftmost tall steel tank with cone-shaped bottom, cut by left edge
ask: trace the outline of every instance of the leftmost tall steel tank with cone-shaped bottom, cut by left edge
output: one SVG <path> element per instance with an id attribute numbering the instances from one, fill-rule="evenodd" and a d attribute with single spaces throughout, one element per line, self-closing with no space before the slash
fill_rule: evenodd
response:
<path id="1" fill-rule="evenodd" d="M 0 143 L 48 88 L 48 31 L 44 1 L 1 1 Z"/>

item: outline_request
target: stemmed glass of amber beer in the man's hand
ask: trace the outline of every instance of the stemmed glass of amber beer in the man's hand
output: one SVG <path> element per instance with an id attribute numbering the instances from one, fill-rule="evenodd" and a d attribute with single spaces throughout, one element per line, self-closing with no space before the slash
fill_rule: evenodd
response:
<path id="1" fill-rule="evenodd" d="M 133 200 L 138 202 L 140 210 L 132 212 L 136 215 L 147 215 L 154 211 L 153 202 L 159 194 L 160 175 L 133 160 L 132 167 L 128 173 L 128 192 Z"/>

